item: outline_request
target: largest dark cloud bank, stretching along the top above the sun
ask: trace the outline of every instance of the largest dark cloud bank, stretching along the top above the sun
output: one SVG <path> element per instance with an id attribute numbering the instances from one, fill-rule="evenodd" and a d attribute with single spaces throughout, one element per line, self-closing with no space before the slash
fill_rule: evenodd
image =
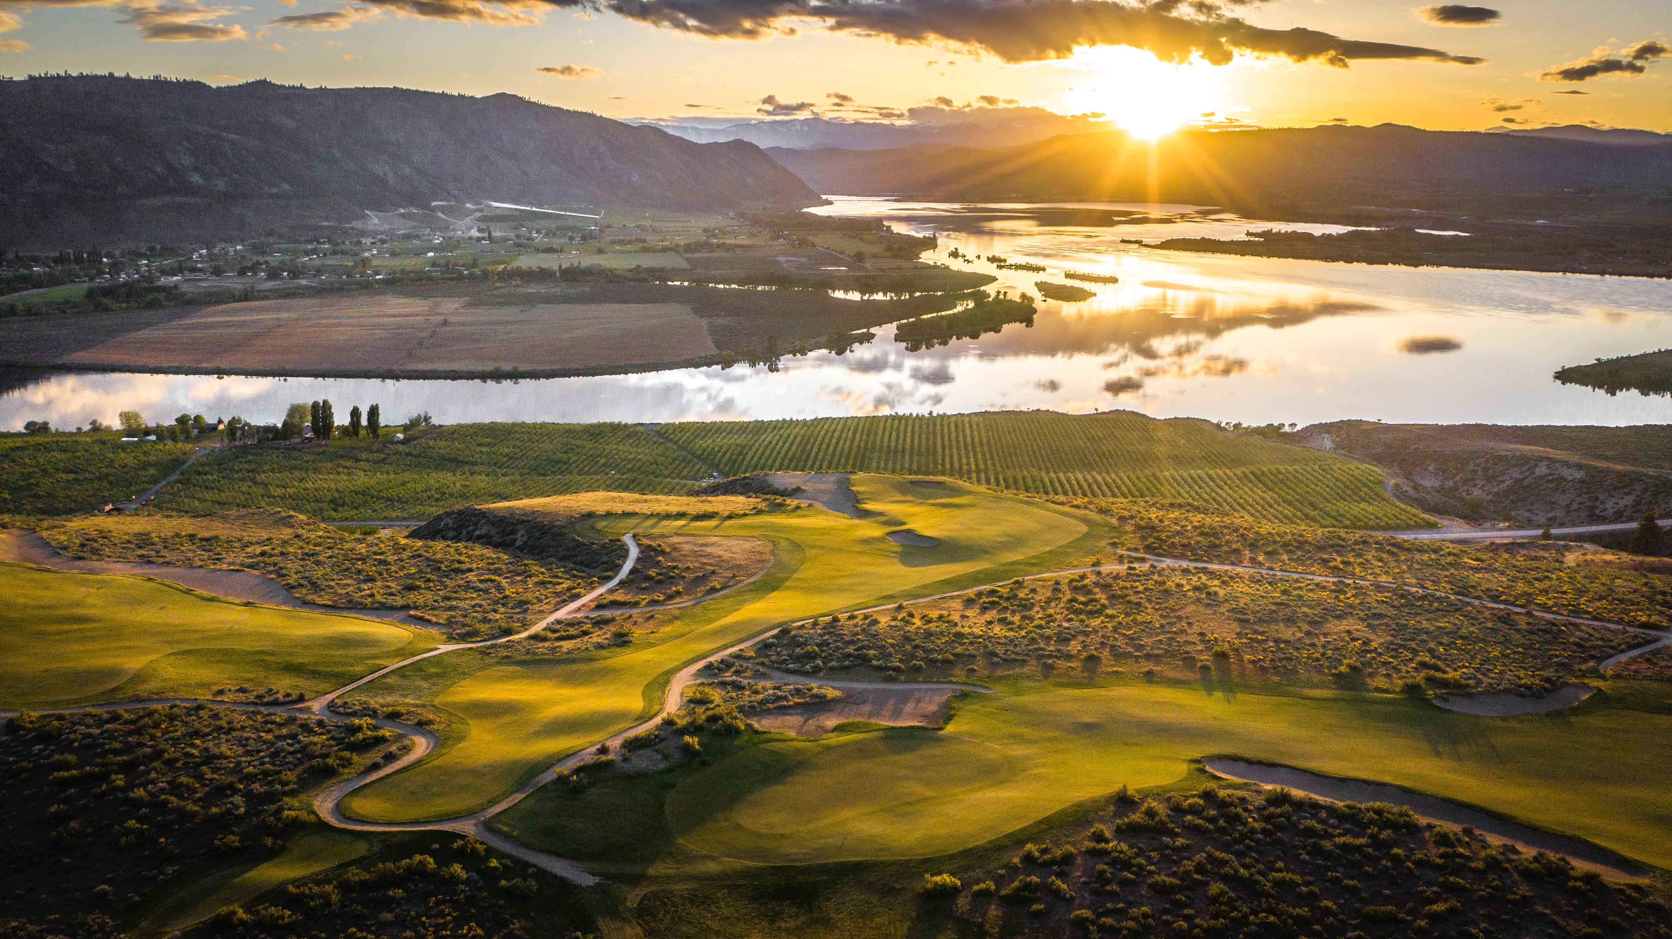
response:
<path id="1" fill-rule="evenodd" d="M 405 0 L 411 2 L 411 0 Z M 898 43 L 951 43 L 1007 62 L 1067 58 L 1077 47 L 1130 45 L 1165 62 L 1227 65 L 1239 52 L 1338 69 L 1356 60 L 1483 60 L 1438 48 L 1272 30 L 1226 13 L 1217 0 L 599 0 L 630 20 L 706 37 L 793 33 L 791 20 Z M 1241 5 L 1241 3 L 1232 3 Z"/>

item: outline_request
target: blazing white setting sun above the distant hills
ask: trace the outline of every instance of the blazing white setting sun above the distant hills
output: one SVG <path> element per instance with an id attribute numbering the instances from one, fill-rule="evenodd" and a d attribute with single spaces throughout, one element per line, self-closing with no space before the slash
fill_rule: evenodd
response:
<path id="1" fill-rule="evenodd" d="M 1219 110 L 1217 79 L 1206 62 L 1169 65 L 1124 45 L 1085 48 L 1075 58 L 1087 75 L 1065 92 L 1065 104 L 1104 112 L 1134 137 L 1155 140 Z"/>

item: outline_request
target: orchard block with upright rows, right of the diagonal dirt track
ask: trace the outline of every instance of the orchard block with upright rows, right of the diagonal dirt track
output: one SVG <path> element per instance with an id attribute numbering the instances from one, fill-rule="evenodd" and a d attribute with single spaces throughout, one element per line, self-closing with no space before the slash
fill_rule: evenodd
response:
<path id="1" fill-rule="evenodd" d="M 1381 473 L 1369 466 L 1194 418 L 1002 411 L 692 423 L 660 429 L 727 475 L 921 473 L 1047 496 L 1187 500 L 1291 525 L 1433 525 L 1391 500 Z"/>

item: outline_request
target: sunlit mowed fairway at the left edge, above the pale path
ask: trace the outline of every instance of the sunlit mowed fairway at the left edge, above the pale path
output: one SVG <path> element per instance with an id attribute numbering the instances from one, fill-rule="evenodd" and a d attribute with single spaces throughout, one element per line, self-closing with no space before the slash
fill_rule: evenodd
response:
<path id="1" fill-rule="evenodd" d="M 137 576 L 0 565 L 0 596 L 3 708 L 204 697 L 224 685 L 318 695 L 438 642 Z"/>

